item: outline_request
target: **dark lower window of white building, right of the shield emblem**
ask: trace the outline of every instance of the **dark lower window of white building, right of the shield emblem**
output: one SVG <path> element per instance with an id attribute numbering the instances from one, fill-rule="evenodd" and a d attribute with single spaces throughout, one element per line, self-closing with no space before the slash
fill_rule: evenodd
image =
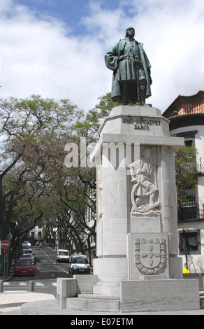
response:
<path id="1" fill-rule="evenodd" d="M 180 230 L 180 254 L 200 254 L 201 235 L 200 230 Z"/>

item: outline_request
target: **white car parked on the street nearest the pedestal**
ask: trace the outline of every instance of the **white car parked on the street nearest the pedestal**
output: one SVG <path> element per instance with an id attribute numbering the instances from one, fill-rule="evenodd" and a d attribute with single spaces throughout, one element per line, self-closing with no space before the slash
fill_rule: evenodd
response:
<path id="1" fill-rule="evenodd" d="M 90 274 L 90 265 L 86 255 L 71 255 L 68 262 L 70 274 Z"/>

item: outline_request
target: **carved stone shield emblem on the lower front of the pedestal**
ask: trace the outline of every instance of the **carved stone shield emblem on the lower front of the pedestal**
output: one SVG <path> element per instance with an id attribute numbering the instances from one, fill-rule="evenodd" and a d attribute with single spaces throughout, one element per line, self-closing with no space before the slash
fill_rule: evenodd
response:
<path id="1" fill-rule="evenodd" d="M 135 239 L 135 262 L 145 274 L 160 274 L 166 268 L 166 239 Z"/>

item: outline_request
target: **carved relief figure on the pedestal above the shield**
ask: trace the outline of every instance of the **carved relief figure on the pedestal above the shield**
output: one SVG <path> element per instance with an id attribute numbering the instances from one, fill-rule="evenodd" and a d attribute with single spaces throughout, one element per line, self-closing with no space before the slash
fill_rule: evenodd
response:
<path id="1" fill-rule="evenodd" d="M 155 211 L 159 208 L 159 201 L 156 167 L 154 166 L 151 148 L 145 148 L 142 158 L 130 165 L 130 173 L 131 182 L 134 183 L 131 191 L 131 213 L 159 215 L 159 211 Z M 154 176 L 153 182 L 150 181 L 150 176 Z M 143 204 L 144 199 L 145 204 Z M 152 211 L 153 209 L 154 211 Z"/>

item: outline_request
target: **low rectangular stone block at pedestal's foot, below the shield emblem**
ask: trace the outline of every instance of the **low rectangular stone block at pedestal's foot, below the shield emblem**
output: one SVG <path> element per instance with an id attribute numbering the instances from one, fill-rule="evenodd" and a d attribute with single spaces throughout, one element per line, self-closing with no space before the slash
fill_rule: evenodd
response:
<path id="1" fill-rule="evenodd" d="M 121 311 L 200 309 L 198 279 L 121 282 Z"/>

